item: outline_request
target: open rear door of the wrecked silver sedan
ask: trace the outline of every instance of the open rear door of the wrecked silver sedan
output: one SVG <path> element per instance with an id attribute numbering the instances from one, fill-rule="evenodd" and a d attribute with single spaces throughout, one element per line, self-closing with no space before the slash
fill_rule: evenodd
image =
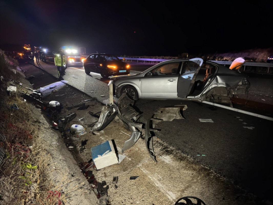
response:
<path id="1" fill-rule="evenodd" d="M 178 98 L 186 98 L 194 88 L 195 78 L 202 64 L 203 59 L 192 58 L 183 66 L 177 83 Z"/>

